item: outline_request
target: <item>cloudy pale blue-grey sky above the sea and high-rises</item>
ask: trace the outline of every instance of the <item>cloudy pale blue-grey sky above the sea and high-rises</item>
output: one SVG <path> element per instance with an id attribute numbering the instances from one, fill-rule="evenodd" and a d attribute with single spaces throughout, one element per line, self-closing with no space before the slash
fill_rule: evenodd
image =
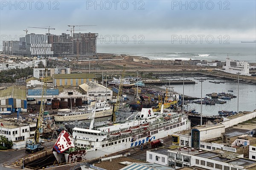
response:
<path id="1" fill-rule="evenodd" d="M 229 35 L 232 40 L 255 40 L 256 1 L 9 1 L 0 3 L 0 35 L 13 40 L 28 33 L 52 34 L 70 29 L 67 25 L 96 32 L 99 37 L 143 35 L 145 40 L 171 40 L 173 35 Z M 78 32 L 78 31 L 76 31 Z"/>

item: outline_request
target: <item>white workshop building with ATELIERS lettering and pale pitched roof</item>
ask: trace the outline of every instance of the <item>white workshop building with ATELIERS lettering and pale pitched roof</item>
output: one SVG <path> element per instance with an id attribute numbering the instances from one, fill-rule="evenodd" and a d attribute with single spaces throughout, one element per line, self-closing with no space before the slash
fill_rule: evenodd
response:
<path id="1" fill-rule="evenodd" d="M 86 95 L 86 98 L 91 101 L 106 100 L 106 97 L 107 101 L 112 101 L 113 98 L 113 91 L 111 89 L 106 89 L 105 86 L 93 81 L 79 85 L 79 89 Z"/>

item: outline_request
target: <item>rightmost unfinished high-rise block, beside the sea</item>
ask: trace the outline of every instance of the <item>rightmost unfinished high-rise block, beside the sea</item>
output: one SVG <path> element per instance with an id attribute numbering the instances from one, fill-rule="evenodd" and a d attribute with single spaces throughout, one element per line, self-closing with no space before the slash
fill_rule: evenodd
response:
<path id="1" fill-rule="evenodd" d="M 74 33 L 73 52 L 79 58 L 96 57 L 98 33 Z"/>

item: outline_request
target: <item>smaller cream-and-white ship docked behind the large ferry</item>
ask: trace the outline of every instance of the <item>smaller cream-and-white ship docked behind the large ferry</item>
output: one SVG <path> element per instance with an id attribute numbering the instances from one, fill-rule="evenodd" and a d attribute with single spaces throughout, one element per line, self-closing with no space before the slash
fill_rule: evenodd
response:
<path id="1" fill-rule="evenodd" d="M 98 101 L 96 107 L 85 108 L 81 111 L 72 112 L 70 109 L 59 109 L 58 115 L 54 116 L 55 122 L 79 121 L 89 119 L 95 109 L 95 118 L 112 115 L 112 108 L 106 101 Z"/>

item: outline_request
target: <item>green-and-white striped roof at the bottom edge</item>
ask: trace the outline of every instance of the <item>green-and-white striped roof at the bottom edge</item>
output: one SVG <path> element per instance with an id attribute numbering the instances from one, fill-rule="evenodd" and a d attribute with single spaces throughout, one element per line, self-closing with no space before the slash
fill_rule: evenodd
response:
<path id="1" fill-rule="evenodd" d="M 132 163 L 120 170 L 175 170 L 172 167 L 166 167 L 154 163 Z"/>

